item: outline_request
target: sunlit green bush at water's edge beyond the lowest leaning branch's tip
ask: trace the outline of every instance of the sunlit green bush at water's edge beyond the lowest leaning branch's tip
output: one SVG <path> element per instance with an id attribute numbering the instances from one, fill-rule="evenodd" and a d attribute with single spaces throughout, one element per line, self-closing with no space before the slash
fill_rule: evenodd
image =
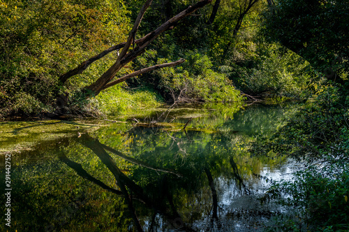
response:
<path id="1" fill-rule="evenodd" d="M 178 52 L 180 48 L 173 45 L 172 50 Z M 239 91 L 232 86 L 232 82 L 222 73 L 214 71 L 213 64 L 207 55 L 198 50 L 185 50 L 180 57 L 186 61 L 181 66 L 161 68 L 154 73 L 144 74 L 142 84 L 162 93 L 164 99 L 170 101 L 218 102 L 241 101 Z M 169 62 L 166 58 L 158 57 L 158 52 L 149 50 L 143 58 L 137 59 L 135 64 L 142 68 L 154 64 Z M 129 82 L 137 85 L 138 80 Z"/>

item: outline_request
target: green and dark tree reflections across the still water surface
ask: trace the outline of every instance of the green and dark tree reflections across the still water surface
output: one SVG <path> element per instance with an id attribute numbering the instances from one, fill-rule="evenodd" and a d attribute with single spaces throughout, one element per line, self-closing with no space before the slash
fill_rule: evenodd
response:
<path id="1" fill-rule="evenodd" d="M 258 201 L 270 179 L 265 171 L 275 178 L 279 164 L 249 157 L 246 144 L 274 129 L 284 111 L 174 112 L 173 125 L 181 128 L 193 117 L 186 130 L 112 124 L 27 152 L 13 168 L 13 225 L 18 231 L 262 230 L 280 210 Z"/>

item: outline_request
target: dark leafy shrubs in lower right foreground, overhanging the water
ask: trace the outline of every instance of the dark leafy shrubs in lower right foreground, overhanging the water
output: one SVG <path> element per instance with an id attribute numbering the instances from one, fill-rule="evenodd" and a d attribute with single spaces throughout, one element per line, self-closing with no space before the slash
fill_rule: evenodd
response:
<path id="1" fill-rule="evenodd" d="M 313 102 L 267 140 L 253 144 L 252 152 L 290 156 L 308 166 L 269 189 L 269 195 L 285 196 L 281 202 L 295 209 L 278 219 L 284 230 L 296 226 L 299 231 L 335 231 L 349 226 L 348 93 L 331 84 L 314 88 Z"/>

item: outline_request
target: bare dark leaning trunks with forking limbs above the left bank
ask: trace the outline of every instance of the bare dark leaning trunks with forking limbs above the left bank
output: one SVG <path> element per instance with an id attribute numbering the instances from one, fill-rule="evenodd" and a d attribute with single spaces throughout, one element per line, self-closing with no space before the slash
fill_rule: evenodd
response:
<path id="1" fill-rule="evenodd" d="M 120 82 L 124 82 L 128 78 L 135 77 L 137 75 L 140 75 L 142 73 L 147 73 L 149 71 L 156 70 L 158 68 L 165 68 L 170 66 L 176 66 L 178 64 L 183 63 L 184 59 L 179 59 L 177 61 L 166 63 L 166 64 L 158 64 L 155 66 L 150 66 L 147 68 L 142 68 L 138 71 L 135 71 L 133 73 L 129 73 L 127 75 L 122 76 L 121 78 L 115 79 L 114 77 L 117 75 L 117 73 L 126 66 L 126 64 L 130 63 L 135 59 L 136 57 L 142 55 L 145 52 L 145 49 L 147 46 L 154 41 L 161 33 L 164 31 L 167 31 L 169 29 L 172 29 L 179 20 L 182 20 L 184 17 L 191 15 L 195 12 L 195 10 L 198 10 L 207 4 L 211 3 L 212 0 L 202 0 L 198 3 L 195 3 L 193 6 L 189 6 L 186 8 L 186 10 L 183 10 L 181 13 L 175 15 L 167 22 L 161 24 L 160 27 L 155 29 L 154 31 L 149 32 L 146 36 L 143 36 L 140 39 L 135 39 L 135 35 L 138 31 L 138 27 L 140 26 L 140 22 L 142 21 L 142 17 L 151 5 L 152 0 L 147 0 L 142 8 L 140 9 L 140 12 L 138 13 L 138 17 L 135 20 L 135 23 L 133 24 L 133 28 L 131 29 L 130 33 L 128 34 L 128 39 L 124 43 L 119 43 L 117 45 L 114 45 L 107 50 L 104 50 L 103 52 L 99 53 L 98 55 L 95 55 L 94 57 L 91 57 L 85 61 L 83 61 L 79 66 L 76 68 L 68 71 L 67 73 L 64 73 L 59 77 L 59 81 L 61 82 L 61 85 L 64 85 L 64 83 L 69 79 L 72 78 L 74 75 L 77 75 L 79 73 L 82 73 L 84 70 L 86 70 L 90 64 L 92 64 L 94 61 L 97 61 L 98 59 L 101 59 L 105 57 L 105 55 L 108 55 L 110 52 L 117 51 L 118 57 L 117 60 L 110 66 L 110 68 L 101 75 L 100 78 L 98 78 L 96 81 L 94 81 L 91 85 L 84 87 L 83 91 L 87 94 L 86 96 L 96 96 L 98 95 L 103 89 L 107 89 L 108 87 L 112 87 L 113 85 L 117 85 Z M 119 52 L 121 50 L 121 52 Z M 65 106 L 67 103 L 67 97 L 66 95 L 60 95 L 57 98 L 57 106 Z"/>

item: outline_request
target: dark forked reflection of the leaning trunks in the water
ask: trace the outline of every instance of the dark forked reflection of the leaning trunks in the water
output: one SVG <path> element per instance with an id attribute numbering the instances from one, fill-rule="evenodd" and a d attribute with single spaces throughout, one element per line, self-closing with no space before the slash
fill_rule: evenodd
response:
<path id="1" fill-rule="evenodd" d="M 154 168 L 148 164 L 145 164 L 144 162 L 126 157 L 121 152 L 117 152 L 111 147 L 103 145 L 98 140 L 91 138 L 91 136 L 89 136 L 88 134 L 85 134 L 84 136 L 82 136 L 80 143 L 82 143 L 84 146 L 92 150 L 94 154 L 96 154 L 97 157 L 101 159 L 103 164 L 107 166 L 110 172 L 114 175 L 117 186 L 119 187 L 119 189 L 121 189 L 121 191 L 108 187 L 106 184 L 104 184 L 100 180 L 97 180 L 96 178 L 92 177 L 87 173 L 87 171 L 84 171 L 81 164 L 77 164 L 74 161 L 70 161 L 64 154 L 61 154 L 60 156 L 61 161 L 67 164 L 70 168 L 73 168 L 76 171 L 76 173 L 81 177 L 84 177 L 87 180 L 94 182 L 94 184 L 98 184 L 98 186 L 102 187 L 103 189 L 106 189 L 107 191 L 112 191 L 112 193 L 114 194 L 123 195 L 126 200 L 126 204 L 128 205 L 128 210 L 131 212 L 133 221 L 135 222 L 135 227 L 138 231 L 143 231 L 143 230 L 142 230 L 140 221 L 135 213 L 135 208 L 133 206 L 133 201 L 132 201 L 133 198 L 131 198 L 131 194 L 135 194 L 136 199 L 140 200 L 142 203 L 147 205 L 148 208 L 152 208 L 156 210 L 156 212 L 159 212 L 162 215 L 164 215 L 165 218 L 172 223 L 172 226 L 176 228 L 180 226 L 180 228 L 184 231 L 193 231 L 193 229 L 191 229 L 188 225 L 186 225 L 183 222 L 179 213 L 176 210 L 176 207 L 174 206 L 172 195 L 169 193 L 167 188 L 168 179 L 166 175 L 163 177 L 163 181 L 161 182 L 162 184 L 161 189 L 163 189 L 163 196 L 164 196 L 163 199 L 167 198 L 168 204 L 166 204 L 165 201 L 153 201 L 153 199 L 151 199 L 147 195 L 147 193 L 144 193 L 142 187 L 140 187 L 138 184 L 133 182 L 133 180 L 128 178 L 124 173 L 122 173 L 122 171 L 119 169 L 117 164 L 115 164 L 112 157 L 110 157 L 110 155 L 107 154 L 105 150 L 112 151 L 114 154 L 118 154 L 119 157 L 122 157 L 127 161 L 131 161 L 134 164 L 140 164 L 141 166 L 145 168 L 150 168 L 154 171 L 163 171 L 165 173 L 171 173 L 177 176 L 181 176 L 181 175 L 179 175 L 178 173 L 174 173 L 172 171 L 165 170 L 163 168 Z"/>

